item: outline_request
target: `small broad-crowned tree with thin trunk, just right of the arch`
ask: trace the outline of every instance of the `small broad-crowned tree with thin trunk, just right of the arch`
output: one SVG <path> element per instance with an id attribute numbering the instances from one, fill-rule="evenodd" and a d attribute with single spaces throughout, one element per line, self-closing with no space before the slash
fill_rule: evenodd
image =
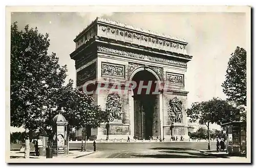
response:
<path id="1" fill-rule="evenodd" d="M 238 109 L 233 107 L 225 100 L 213 98 L 209 101 L 195 102 L 186 110 L 190 122 L 199 121 L 200 124 L 207 126 L 208 150 L 210 150 L 210 130 L 209 125 L 221 124 L 232 121 Z"/>

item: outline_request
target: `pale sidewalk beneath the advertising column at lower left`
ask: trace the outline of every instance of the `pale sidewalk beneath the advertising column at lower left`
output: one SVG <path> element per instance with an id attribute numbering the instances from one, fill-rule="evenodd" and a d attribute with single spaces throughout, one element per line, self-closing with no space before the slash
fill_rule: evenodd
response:
<path id="1" fill-rule="evenodd" d="M 81 152 L 81 151 L 69 151 L 69 155 L 58 155 L 58 156 L 53 156 L 53 158 L 79 158 L 82 156 L 90 155 L 92 153 L 95 153 L 94 151 L 86 151 L 86 152 Z M 24 158 L 25 156 L 24 152 L 20 151 L 10 151 L 10 158 Z M 46 158 L 46 156 L 35 156 L 33 152 L 30 152 L 29 158 Z"/>

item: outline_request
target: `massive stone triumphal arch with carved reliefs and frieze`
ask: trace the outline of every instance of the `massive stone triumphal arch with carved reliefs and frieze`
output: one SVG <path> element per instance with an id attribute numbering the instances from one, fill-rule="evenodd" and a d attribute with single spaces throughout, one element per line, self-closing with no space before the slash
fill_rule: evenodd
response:
<path id="1" fill-rule="evenodd" d="M 75 39 L 76 88 L 83 90 L 86 82 L 107 83 L 91 96 L 103 110 L 113 110 L 113 120 L 91 128 L 91 139 L 170 139 L 188 138 L 187 62 L 192 59 L 183 40 L 148 34 L 133 26 L 97 18 Z M 141 95 L 127 83 L 134 80 L 156 81 L 158 94 Z M 111 87 L 119 85 L 113 94 Z M 118 90 L 117 89 L 117 90 Z M 179 117 L 177 117 L 179 115 Z M 79 132 L 79 128 L 77 128 Z"/>

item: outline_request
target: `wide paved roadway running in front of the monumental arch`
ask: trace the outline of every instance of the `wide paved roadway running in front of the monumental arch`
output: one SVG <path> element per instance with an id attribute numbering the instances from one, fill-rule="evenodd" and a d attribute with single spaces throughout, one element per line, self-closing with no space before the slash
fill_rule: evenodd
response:
<path id="1" fill-rule="evenodd" d="M 211 145 L 215 148 L 216 143 Z M 93 150 L 92 144 L 87 149 Z M 82 158 L 216 158 L 201 150 L 207 150 L 207 143 L 98 143 L 96 153 Z"/>

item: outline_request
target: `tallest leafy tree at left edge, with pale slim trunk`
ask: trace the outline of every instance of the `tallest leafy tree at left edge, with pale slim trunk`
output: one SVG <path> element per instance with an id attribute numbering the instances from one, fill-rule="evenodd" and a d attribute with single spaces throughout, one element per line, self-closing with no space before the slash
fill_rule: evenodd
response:
<path id="1" fill-rule="evenodd" d="M 29 131 L 44 129 L 49 97 L 65 82 L 67 68 L 58 64 L 55 53 L 47 53 L 48 37 L 38 33 L 37 27 L 29 29 L 26 25 L 19 31 L 17 22 L 11 25 L 11 126 Z M 29 146 L 28 136 L 25 146 Z"/>

